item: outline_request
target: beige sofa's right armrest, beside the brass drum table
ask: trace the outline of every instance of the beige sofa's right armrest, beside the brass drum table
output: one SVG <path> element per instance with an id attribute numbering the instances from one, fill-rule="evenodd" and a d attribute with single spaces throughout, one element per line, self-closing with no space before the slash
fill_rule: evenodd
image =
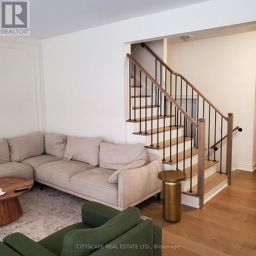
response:
<path id="1" fill-rule="evenodd" d="M 163 170 L 161 157 L 156 157 L 145 166 L 123 169 L 118 177 L 118 206 L 125 208 L 153 195 L 162 188 L 158 173 Z"/>

